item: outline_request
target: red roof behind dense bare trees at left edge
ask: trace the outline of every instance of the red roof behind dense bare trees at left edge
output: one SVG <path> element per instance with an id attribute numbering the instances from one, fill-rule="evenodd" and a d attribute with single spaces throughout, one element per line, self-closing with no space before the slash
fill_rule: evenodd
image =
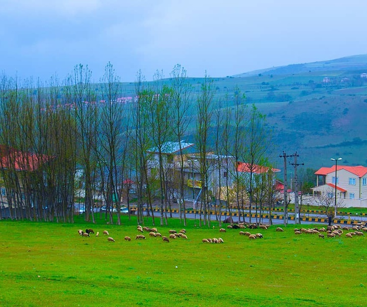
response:
<path id="1" fill-rule="evenodd" d="M 4 145 L 0 146 L 0 168 L 15 169 L 16 171 L 33 172 L 39 166 L 48 161 L 49 157 L 46 155 L 37 155 L 30 152 L 21 152 L 12 148 L 6 148 Z"/>

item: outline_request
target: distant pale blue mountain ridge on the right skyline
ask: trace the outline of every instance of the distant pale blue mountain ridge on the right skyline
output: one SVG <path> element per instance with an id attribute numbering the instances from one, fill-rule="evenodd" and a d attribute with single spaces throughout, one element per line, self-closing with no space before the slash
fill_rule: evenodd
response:
<path id="1" fill-rule="evenodd" d="M 335 60 L 319 61 L 303 64 L 291 64 L 266 69 L 253 70 L 233 77 L 249 77 L 259 74 L 263 75 L 284 75 L 298 74 L 317 71 L 367 71 L 367 54 L 351 55 L 350 57 L 339 58 Z"/>

